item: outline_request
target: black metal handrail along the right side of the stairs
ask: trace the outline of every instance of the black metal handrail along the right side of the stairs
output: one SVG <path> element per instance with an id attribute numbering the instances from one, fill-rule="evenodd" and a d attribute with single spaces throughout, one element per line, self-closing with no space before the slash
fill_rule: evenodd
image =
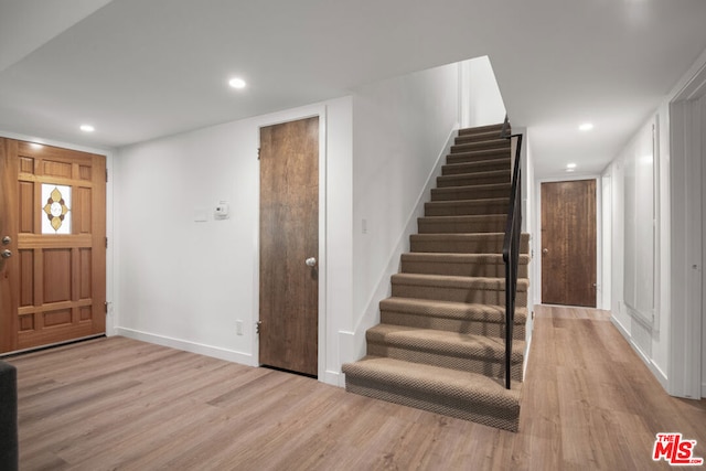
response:
<path id="1" fill-rule="evenodd" d="M 510 206 L 505 223 L 505 238 L 503 240 L 503 261 L 505 263 L 505 388 L 511 388 L 512 364 L 512 331 L 515 322 L 515 296 L 517 293 L 517 264 L 520 261 L 520 237 L 522 234 L 522 169 L 520 157 L 522 135 L 510 133 L 507 117 L 503 122 L 501 138 L 517 139 L 515 162 L 512 172 L 512 188 L 510 190 Z"/>

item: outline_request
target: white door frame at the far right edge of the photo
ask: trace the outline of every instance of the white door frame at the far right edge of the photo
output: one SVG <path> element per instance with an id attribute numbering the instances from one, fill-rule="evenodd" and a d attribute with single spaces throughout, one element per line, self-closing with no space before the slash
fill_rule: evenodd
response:
<path id="1" fill-rule="evenodd" d="M 702 180 L 706 174 L 702 162 L 706 138 L 693 130 L 694 126 L 706 126 L 706 113 L 699 113 L 698 105 L 692 106 L 700 99 L 706 99 L 706 64 L 700 65 L 668 104 L 672 319 L 667 392 L 692 399 L 706 397 L 706 377 L 702 377 L 702 363 L 706 362 L 703 325 L 706 189 Z M 698 261 L 694 264 L 695 260 Z"/>

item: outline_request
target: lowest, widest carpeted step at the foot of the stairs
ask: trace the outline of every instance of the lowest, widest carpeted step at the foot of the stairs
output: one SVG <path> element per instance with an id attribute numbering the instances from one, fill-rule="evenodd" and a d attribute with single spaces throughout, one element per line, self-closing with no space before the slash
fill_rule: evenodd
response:
<path id="1" fill-rule="evenodd" d="M 343 373 L 356 394 L 517 430 L 521 382 L 505 389 L 483 375 L 375 356 L 343 365 Z"/>

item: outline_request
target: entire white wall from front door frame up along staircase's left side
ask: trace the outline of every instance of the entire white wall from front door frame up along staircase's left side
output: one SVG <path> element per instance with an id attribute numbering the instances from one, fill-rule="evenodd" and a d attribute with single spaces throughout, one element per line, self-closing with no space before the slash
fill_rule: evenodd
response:
<path id="1" fill-rule="evenodd" d="M 377 304 L 456 136 L 461 75 L 458 64 L 442 66 L 119 149 L 117 332 L 258 363 L 259 127 L 325 115 L 319 375 L 343 385 L 340 366 L 364 354 L 365 330 L 379 320 Z M 228 220 L 212 216 L 220 201 L 231 205 Z M 195 222 L 203 212 L 208 221 Z"/>

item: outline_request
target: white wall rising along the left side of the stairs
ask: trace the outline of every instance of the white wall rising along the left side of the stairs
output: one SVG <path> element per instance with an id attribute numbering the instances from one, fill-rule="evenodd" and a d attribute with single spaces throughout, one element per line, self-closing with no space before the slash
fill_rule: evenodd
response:
<path id="1" fill-rule="evenodd" d="M 355 361 L 408 250 L 428 183 L 458 128 L 457 64 L 363 86 L 353 95 L 353 318 L 341 342 Z"/>

